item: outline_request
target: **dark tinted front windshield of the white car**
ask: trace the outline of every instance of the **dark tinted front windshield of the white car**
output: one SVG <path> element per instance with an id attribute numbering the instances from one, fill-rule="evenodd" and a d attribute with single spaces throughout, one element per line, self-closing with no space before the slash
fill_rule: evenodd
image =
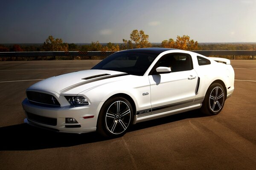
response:
<path id="1" fill-rule="evenodd" d="M 121 71 L 143 76 L 157 54 L 142 52 L 118 52 L 99 62 L 92 69 Z"/>

